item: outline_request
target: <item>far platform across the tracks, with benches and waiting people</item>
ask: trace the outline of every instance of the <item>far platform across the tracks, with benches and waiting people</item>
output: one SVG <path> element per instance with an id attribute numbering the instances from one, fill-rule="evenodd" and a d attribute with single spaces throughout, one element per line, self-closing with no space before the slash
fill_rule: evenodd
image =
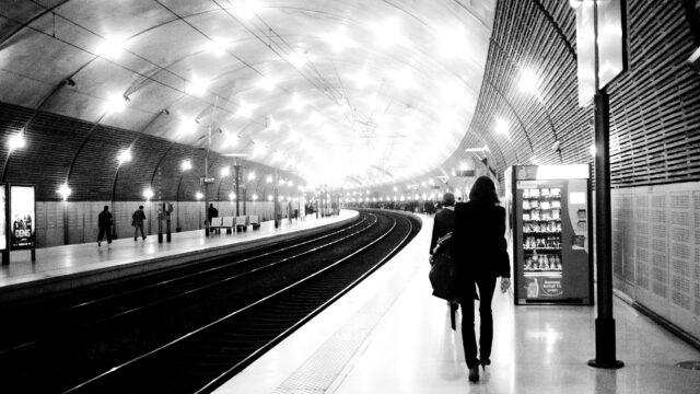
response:
<path id="1" fill-rule="evenodd" d="M 244 252 L 269 243 L 313 234 L 342 227 L 357 218 L 358 211 L 341 210 L 338 216 L 300 220 L 282 220 L 279 228 L 273 221 L 260 223 L 258 230 L 220 233 L 205 236 L 205 230 L 172 233 L 172 242 L 158 242 L 158 234 L 145 240 L 127 236 L 106 241 L 54 246 L 36 250 L 35 262 L 30 251 L 11 252 L 10 264 L 0 267 L 0 300 L 2 303 L 27 297 L 92 285 L 124 276 L 138 275 L 195 260 L 215 258 L 230 253 Z M 122 234 L 125 235 L 125 234 Z M 131 234 L 129 234 L 131 235 Z"/>

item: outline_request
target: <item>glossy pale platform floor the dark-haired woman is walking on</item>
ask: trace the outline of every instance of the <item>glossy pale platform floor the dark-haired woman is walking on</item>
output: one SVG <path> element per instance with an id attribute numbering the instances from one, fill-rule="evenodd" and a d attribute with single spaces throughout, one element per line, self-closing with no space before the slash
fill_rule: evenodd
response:
<path id="1" fill-rule="evenodd" d="M 217 394 L 700 393 L 700 351 L 615 299 L 619 370 L 595 358 L 595 306 L 513 304 L 497 289 L 492 364 L 470 383 L 448 306 L 431 296 L 432 218 L 418 236 Z M 458 317 L 459 318 L 459 317 Z M 478 326 L 478 318 L 477 318 Z"/>

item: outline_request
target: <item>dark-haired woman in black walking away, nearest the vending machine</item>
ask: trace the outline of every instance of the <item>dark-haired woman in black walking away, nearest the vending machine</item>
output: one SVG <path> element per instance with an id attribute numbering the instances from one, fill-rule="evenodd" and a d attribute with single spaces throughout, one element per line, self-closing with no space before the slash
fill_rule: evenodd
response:
<path id="1" fill-rule="evenodd" d="M 501 277 L 501 292 L 511 286 L 511 264 L 505 242 L 505 209 L 499 206 L 495 185 L 480 176 L 469 193 L 469 201 L 455 206 L 455 229 L 452 232 L 452 258 L 458 267 L 458 298 L 462 304 L 462 339 L 469 381 L 479 381 L 479 364 L 486 370 L 491 363 L 493 316 L 491 300 L 495 278 Z M 474 287 L 479 289 L 479 357 L 474 333 Z"/>

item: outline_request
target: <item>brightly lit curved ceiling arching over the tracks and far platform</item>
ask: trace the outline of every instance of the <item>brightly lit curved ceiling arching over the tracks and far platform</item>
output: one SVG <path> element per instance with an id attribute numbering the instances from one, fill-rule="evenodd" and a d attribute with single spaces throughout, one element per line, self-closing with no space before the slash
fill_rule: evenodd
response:
<path id="1" fill-rule="evenodd" d="M 396 183 L 455 152 L 495 0 L 0 4 L 0 101 L 294 172 Z M 126 100 L 125 100 L 126 99 Z"/>

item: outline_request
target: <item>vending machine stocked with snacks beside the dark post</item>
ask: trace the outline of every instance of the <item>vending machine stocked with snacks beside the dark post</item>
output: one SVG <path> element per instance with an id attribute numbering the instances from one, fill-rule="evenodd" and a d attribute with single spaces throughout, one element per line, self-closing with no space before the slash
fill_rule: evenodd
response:
<path id="1" fill-rule="evenodd" d="M 591 305 L 588 165 L 515 165 L 504 179 L 515 304 Z"/>

